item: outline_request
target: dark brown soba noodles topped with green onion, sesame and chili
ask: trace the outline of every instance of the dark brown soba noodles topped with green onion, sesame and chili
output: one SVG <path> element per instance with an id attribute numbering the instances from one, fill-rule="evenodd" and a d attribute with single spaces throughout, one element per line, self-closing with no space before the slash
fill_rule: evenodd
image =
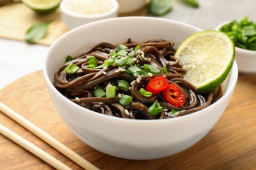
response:
<path id="1" fill-rule="evenodd" d="M 68 56 L 53 84 L 74 103 L 101 114 L 130 119 L 173 118 L 203 109 L 221 95 L 200 93 L 182 78 L 173 42 L 119 45 L 100 42 Z"/>

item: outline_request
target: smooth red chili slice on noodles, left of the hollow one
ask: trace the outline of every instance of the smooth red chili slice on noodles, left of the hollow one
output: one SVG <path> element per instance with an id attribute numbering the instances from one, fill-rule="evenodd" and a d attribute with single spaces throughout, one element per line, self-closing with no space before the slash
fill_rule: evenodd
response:
<path id="1" fill-rule="evenodd" d="M 161 92 L 168 85 L 168 79 L 163 76 L 156 76 L 152 78 L 146 85 L 146 91 L 153 94 Z"/>

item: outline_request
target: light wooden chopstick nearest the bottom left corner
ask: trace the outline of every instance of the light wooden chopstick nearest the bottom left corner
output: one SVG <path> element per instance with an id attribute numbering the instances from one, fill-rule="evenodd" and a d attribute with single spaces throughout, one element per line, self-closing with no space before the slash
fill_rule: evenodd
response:
<path id="1" fill-rule="evenodd" d="M 0 124 L 0 133 L 2 133 L 3 135 L 5 135 L 5 137 L 8 137 L 15 143 L 20 144 L 20 146 L 22 146 L 23 148 L 26 148 L 26 150 L 32 152 L 33 154 L 35 154 L 35 156 L 38 156 L 39 158 L 41 158 L 45 162 L 49 163 L 49 165 L 52 165 L 56 169 L 71 170 L 70 167 L 68 167 L 61 161 L 56 160 L 55 158 L 53 158 L 53 156 L 47 154 L 47 152 L 41 150 L 40 148 L 38 148 L 34 144 L 30 143 L 23 137 L 20 137 L 19 135 L 17 135 L 16 133 L 14 133 L 10 129 L 8 129 L 7 127 L 3 126 L 2 124 Z"/>

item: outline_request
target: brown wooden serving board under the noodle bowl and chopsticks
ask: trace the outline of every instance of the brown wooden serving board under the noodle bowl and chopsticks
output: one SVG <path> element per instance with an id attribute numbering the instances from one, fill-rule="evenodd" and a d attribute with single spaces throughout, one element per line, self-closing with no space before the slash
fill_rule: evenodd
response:
<path id="1" fill-rule="evenodd" d="M 239 75 L 228 107 L 216 126 L 187 150 L 158 160 L 124 160 L 81 142 L 54 109 L 42 71 L 24 76 L 2 90 L 0 101 L 100 169 L 256 169 L 256 75 Z M 9 127 L 72 169 L 73 161 L 0 112 Z M 0 135 L 0 169 L 53 169 Z"/>

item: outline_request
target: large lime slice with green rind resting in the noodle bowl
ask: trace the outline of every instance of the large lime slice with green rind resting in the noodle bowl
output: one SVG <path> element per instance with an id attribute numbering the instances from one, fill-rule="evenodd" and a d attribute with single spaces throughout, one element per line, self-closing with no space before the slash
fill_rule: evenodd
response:
<path id="1" fill-rule="evenodd" d="M 199 92 L 211 92 L 230 72 L 235 56 L 234 42 L 221 31 L 202 31 L 186 39 L 175 57 L 186 69 L 183 78 Z"/>

